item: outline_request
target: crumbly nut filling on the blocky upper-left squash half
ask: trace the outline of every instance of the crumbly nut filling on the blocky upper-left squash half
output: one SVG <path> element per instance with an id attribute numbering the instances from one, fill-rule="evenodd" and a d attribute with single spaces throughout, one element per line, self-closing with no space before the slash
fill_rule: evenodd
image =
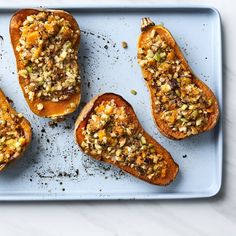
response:
<path id="1" fill-rule="evenodd" d="M 30 101 L 36 98 L 58 102 L 80 90 L 77 51 L 79 31 L 52 12 L 27 16 L 16 47 L 24 68 L 19 71 Z"/>

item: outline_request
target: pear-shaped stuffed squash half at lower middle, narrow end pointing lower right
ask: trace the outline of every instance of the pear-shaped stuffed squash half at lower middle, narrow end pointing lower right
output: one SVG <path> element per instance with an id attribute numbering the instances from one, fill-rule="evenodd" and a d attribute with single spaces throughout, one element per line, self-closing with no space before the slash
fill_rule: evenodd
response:
<path id="1" fill-rule="evenodd" d="M 171 155 L 144 131 L 132 106 L 105 93 L 92 99 L 75 124 L 81 150 L 96 160 L 156 185 L 168 185 L 179 170 Z"/>

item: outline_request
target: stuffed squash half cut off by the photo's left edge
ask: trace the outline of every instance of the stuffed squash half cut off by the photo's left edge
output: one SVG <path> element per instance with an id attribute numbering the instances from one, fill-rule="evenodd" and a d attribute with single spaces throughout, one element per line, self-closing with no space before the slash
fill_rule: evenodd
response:
<path id="1" fill-rule="evenodd" d="M 23 154 L 31 135 L 30 123 L 11 107 L 0 89 L 0 171 Z"/>

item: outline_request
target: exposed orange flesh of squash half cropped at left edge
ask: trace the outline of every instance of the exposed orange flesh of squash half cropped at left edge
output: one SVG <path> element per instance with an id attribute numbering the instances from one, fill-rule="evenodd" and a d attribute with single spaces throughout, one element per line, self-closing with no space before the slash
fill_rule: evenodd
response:
<path id="1" fill-rule="evenodd" d="M 31 131 L 31 125 L 29 123 L 28 120 L 26 120 L 24 117 L 21 117 L 20 120 L 20 124 L 15 124 L 13 122 L 13 118 L 11 116 L 17 116 L 18 113 L 11 107 L 10 103 L 8 102 L 7 98 L 5 97 L 4 93 L 2 92 L 2 90 L 0 89 L 0 110 L 1 112 L 3 111 L 7 111 L 7 117 L 8 120 L 4 120 L 5 122 L 9 122 L 9 123 L 13 123 L 13 125 L 19 125 L 20 129 L 23 131 L 24 134 L 24 138 L 25 138 L 25 142 L 24 142 L 24 146 L 22 147 L 20 153 L 15 153 L 14 157 L 11 156 L 7 162 L 0 162 L 0 171 L 2 171 L 3 169 L 5 169 L 12 161 L 19 159 L 22 154 L 24 153 L 24 151 L 26 150 L 27 146 L 29 145 L 30 141 L 31 141 L 31 136 L 32 136 L 32 131 Z M 1 153 L 1 151 L 0 151 Z M 4 153 L 3 156 L 5 155 Z"/>

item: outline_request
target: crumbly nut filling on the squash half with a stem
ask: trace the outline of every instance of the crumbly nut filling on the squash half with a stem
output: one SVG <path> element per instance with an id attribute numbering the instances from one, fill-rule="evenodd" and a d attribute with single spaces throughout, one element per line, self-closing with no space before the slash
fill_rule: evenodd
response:
<path id="1" fill-rule="evenodd" d="M 213 101 L 194 83 L 175 49 L 155 29 L 148 34 L 138 48 L 138 63 L 151 75 L 146 80 L 155 99 L 154 112 L 174 132 L 199 133 L 213 112 Z"/>

